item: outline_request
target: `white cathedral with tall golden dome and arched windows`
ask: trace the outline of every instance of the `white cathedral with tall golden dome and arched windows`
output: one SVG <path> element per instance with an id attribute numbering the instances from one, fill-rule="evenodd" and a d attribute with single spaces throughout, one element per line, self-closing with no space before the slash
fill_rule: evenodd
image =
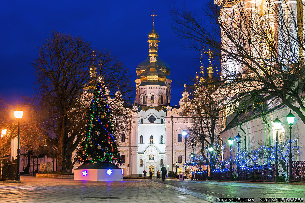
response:
<path id="1" fill-rule="evenodd" d="M 142 176 L 143 170 L 152 170 L 155 176 L 162 164 L 170 171 L 182 173 L 185 159 L 193 152 L 192 148 L 185 147 L 186 137 L 182 135 L 192 121 L 183 111 L 185 101 L 189 100 L 188 93 L 182 94 L 180 107 L 170 106 L 170 66 L 159 58 L 159 34 L 154 22 L 147 42 L 148 57 L 136 68 L 138 105 L 130 115 L 129 132 L 118 140 L 124 161 L 120 167 L 125 176 Z M 174 167 L 176 162 L 179 168 Z"/>

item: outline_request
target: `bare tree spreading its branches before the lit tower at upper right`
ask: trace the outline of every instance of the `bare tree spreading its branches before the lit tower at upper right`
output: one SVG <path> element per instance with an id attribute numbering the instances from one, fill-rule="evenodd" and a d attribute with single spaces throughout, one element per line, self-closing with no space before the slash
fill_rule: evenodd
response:
<path id="1" fill-rule="evenodd" d="M 217 96 L 230 97 L 237 114 L 262 98 L 278 98 L 305 124 L 303 2 L 216 3 L 210 1 L 203 7 L 210 24 L 186 6 L 171 8 L 171 14 L 173 30 L 188 40 L 185 47 L 220 50 L 214 53 L 221 58 L 223 75 Z M 275 107 L 272 102 L 266 105 Z"/>

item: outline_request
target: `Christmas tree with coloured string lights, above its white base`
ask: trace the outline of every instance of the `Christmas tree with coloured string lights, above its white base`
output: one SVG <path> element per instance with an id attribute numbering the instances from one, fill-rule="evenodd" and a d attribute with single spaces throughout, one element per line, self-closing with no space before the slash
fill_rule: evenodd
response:
<path id="1" fill-rule="evenodd" d="M 99 82 L 89 106 L 84 137 L 78 147 L 77 161 L 121 163 L 106 91 Z"/>

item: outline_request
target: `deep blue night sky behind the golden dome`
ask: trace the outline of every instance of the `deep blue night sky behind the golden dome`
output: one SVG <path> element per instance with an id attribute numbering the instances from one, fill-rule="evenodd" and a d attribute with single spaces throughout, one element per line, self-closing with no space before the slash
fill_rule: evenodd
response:
<path id="1" fill-rule="evenodd" d="M 35 45 L 40 46 L 52 30 L 83 36 L 94 48 L 111 50 L 131 70 L 134 81 L 136 66 L 148 55 L 147 34 L 155 9 L 159 56 L 171 67 L 171 105 L 178 104 L 184 90 L 179 81 L 195 75 L 200 53 L 185 51 L 178 44 L 187 42 L 171 30 L 173 3 L 181 6 L 184 1 L 1 1 L 1 96 L 17 104 L 21 96 L 33 94 L 36 78 L 29 62 L 38 55 Z M 200 10 L 202 4 L 186 2 L 192 10 Z"/>

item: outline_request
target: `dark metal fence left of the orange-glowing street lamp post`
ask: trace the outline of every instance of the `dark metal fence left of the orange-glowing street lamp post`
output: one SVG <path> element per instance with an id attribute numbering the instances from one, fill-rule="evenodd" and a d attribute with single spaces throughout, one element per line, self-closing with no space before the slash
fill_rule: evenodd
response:
<path id="1" fill-rule="evenodd" d="M 0 180 L 16 180 L 17 159 L 0 159 Z"/>

